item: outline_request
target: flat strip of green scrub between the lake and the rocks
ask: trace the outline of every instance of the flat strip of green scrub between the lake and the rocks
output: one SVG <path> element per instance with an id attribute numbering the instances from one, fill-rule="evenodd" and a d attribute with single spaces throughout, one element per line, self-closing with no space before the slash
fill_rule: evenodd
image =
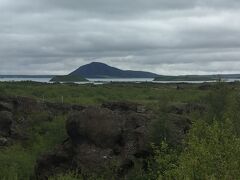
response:
<path id="1" fill-rule="evenodd" d="M 156 107 L 162 101 L 197 101 L 205 96 L 192 85 L 178 91 L 176 85 L 158 84 L 47 84 L 33 82 L 0 83 L 10 96 L 33 97 L 40 101 L 62 102 L 74 104 L 100 104 L 105 101 L 133 101 Z"/>

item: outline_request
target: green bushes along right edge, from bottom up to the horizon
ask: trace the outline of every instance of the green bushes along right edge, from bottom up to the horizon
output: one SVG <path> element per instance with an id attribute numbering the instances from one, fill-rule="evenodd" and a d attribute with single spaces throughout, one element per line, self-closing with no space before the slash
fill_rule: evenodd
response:
<path id="1" fill-rule="evenodd" d="M 154 147 L 150 167 L 158 179 L 240 177 L 239 94 L 220 83 L 203 102 L 208 111 L 193 121 L 182 152 L 166 143 Z"/>

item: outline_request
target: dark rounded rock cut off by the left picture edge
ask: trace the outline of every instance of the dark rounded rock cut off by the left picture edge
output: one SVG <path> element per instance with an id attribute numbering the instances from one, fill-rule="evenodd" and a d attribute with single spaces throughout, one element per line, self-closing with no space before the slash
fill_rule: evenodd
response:
<path id="1" fill-rule="evenodd" d="M 7 111 L 0 112 L 0 136 L 10 136 L 12 121 L 12 113 Z"/>

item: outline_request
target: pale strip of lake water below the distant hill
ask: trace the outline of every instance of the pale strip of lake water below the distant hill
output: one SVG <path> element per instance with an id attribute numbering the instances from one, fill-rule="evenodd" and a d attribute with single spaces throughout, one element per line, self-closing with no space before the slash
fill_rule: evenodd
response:
<path id="1" fill-rule="evenodd" d="M 0 78 L 2 82 L 19 82 L 19 81 L 35 81 L 47 83 L 51 78 Z M 79 82 L 78 84 L 94 83 L 94 84 L 104 84 L 110 82 L 154 82 L 154 83 L 203 83 L 204 81 L 153 81 L 153 78 L 91 78 L 88 79 L 89 82 Z M 240 81 L 240 79 L 225 79 L 227 82 Z"/>

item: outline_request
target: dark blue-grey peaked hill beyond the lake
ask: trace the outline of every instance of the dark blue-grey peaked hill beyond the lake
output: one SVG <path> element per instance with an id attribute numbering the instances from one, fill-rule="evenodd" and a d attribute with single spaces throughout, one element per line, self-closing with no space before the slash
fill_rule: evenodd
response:
<path id="1" fill-rule="evenodd" d="M 158 76 L 158 74 L 144 71 L 121 70 L 100 62 L 81 66 L 70 75 L 85 78 L 155 78 Z"/>

